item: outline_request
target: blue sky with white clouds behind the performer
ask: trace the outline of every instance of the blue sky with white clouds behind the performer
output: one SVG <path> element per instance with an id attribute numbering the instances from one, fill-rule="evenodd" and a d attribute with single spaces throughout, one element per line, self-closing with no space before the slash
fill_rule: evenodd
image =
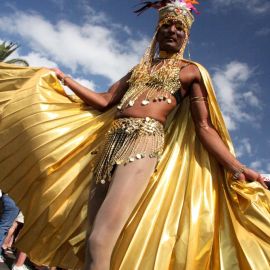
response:
<path id="1" fill-rule="evenodd" d="M 200 1 L 191 32 L 194 61 L 210 72 L 239 159 L 270 173 L 270 1 Z M 13 57 L 59 66 L 106 90 L 134 66 L 152 38 L 157 14 L 132 13 L 136 0 L 9 0 L 0 3 L 0 41 Z"/>

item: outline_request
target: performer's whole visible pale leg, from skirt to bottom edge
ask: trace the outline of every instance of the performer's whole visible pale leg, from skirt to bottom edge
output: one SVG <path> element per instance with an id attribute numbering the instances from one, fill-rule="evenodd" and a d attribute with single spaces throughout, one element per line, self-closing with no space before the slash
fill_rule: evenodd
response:
<path id="1" fill-rule="evenodd" d="M 109 270 L 116 241 L 141 198 L 157 160 L 146 157 L 117 166 L 109 192 L 100 207 L 89 238 L 92 263 L 85 270 Z"/>

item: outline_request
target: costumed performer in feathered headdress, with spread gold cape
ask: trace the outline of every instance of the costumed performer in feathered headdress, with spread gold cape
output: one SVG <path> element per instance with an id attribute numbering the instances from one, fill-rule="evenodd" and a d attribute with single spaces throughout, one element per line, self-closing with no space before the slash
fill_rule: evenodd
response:
<path id="1" fill-rule="evenodd" d="M 234 157 L 207 71 L 183 59 L 193 4 L 138 10 L 159 10 L 157 31 L 105 93 L 54 69 L 67 97 L 47 69 L 1 65 L 0 184 L 25 215 L 17 245 L 34 262 L 269 268 L 269 191 Z"/>

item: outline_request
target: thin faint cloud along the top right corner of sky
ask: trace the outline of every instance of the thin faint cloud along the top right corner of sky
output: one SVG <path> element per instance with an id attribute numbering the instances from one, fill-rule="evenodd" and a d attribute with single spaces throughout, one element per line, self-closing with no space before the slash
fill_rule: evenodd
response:
<path id="1" fill-rule="evenodd" d="M 211 0 L 211 2 L 215 10 L 238 7 L 246 9 L 253 14 L 266 14 L 270 11 L 269 0 Z"/>

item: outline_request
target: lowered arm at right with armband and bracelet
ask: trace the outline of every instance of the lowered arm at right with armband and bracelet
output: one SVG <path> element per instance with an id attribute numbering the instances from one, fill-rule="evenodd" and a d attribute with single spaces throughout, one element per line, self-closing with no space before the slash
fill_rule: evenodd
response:
<path id="1" fill-rule="evenodd" d="M 239 180 L 256 180 L 267 188 L 263 181 L 264 178 L 239 162 L 223 143 L 210 119 L 207 91 L 201 74 L 196 66 L 192 67 L 192 72 L 194 76 L 189 90 L 190 108 L 196 134 L 199 136 L 201 143 L 235 178 Z"/>

